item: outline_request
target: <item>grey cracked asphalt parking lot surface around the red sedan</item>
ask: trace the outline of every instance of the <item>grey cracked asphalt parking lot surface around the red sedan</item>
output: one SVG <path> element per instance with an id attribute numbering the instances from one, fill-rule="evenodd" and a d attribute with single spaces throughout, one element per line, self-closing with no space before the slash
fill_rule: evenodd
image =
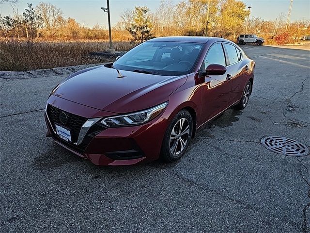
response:
<path id="1" fill-rule="evenodd" d="M 0 232 L 310 232 L 310 156 L 260 143 L 310 145 L 310 52 L 243 49 L 256 62 L 247 108 L 174 164 L 94 166 L 45 137 L 45 101 L 74 69 L 0 72 Z"/>

